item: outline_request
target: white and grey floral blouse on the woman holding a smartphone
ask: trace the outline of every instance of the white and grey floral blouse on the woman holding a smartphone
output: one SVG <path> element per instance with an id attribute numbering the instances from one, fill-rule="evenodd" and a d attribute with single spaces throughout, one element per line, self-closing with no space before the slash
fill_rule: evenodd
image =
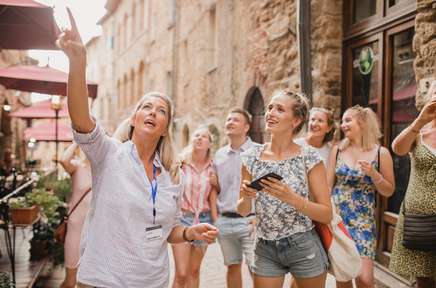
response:
<path id="1" fill-rule="evenodd" d="M 256 179 L 269 172 L 274 172 L 283 177 L 283 182 L 300 196 L 309 199 L 303 159 L 300 156 L 288 157 L 283 161 L 261 160 L 260 154 L 265 148 L 253 146 L 241 153 L 242 163 L 247 171 Z M 303 148 L 301 148 L 303 149 Z M 305 156 L 307 172 L 323 158 L 316 148 L 309 147 Z M 298 232 L 310 231 L 313 228 L 309 217 L 298 212 L 291 204 L 283 202 L 276 197 L 259 192 L 259 197 L 255 199 L 256 211 L 256 237 L 274 241 Z"/>

